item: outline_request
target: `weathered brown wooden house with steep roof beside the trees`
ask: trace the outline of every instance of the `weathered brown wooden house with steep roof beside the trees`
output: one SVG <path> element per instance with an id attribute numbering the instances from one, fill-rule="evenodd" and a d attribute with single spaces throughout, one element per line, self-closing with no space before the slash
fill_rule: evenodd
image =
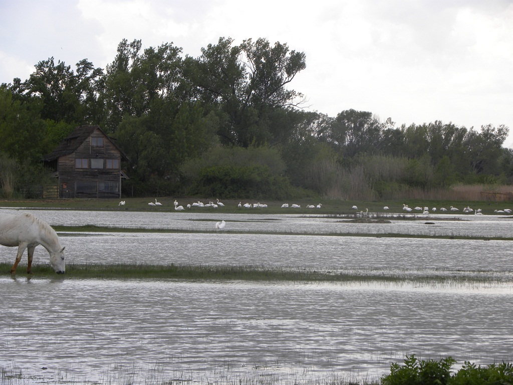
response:
<path id="1" fill-rule="evenodd" d="M 80 126 L 64 139 L 45 164 L 56 172 L 59 198 L 120 198 L 126 156 L 99 126 Z"/>

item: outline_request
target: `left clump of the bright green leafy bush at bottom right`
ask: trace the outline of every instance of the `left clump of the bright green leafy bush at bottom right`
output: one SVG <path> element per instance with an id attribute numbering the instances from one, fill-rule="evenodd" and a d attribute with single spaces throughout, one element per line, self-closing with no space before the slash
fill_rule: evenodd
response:
<path id="1" fill-rule="evenodd" d="M 381 379 L 382 385 L 445 385 L 449 383 L 450 368 L 456 361 L 451 357 L 440 361 L 422 360 L 415 354 L 406 356 L 404 365 L 394 362 L 390 374 Z"/>

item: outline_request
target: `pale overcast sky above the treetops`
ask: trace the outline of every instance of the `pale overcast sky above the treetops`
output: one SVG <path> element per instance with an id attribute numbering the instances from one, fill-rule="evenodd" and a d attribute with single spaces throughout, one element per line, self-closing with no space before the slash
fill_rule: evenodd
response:
<path id="1" fill-rule="evenodd" d="M 221 36 L 305 52 L 310 110 L 513 131 L 513 0 L 0 0 L 0 83 L 51 56 L 105 68 L 123 38 L 198 57 Z"/>

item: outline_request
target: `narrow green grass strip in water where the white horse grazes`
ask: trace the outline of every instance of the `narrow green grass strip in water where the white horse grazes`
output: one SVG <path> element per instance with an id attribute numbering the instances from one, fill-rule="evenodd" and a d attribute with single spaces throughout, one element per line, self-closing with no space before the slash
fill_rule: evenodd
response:
<path id="1" fill-rule="evenodd" d="M 0 263 L 0 276 L 11 276 L 11 264 Z M 27 276 L 26 266 L 19 265 L 15 277 Z M 415 284 L 446 284 L 455 282 L 483 283 L 508 281 L 511 275 L 497 277 L 490 272 L 431 272 L 421 273 L 402 270 L 351 269 L 322 270 L 299 267 L 264 267 L 253 265 L 154 265 L 143 263 L 71 263 L 66 266 L 66 274 L 56 275 L 49 264 L 32 266 L 34 278 L 56 279 L 153 279 L 190 281 L 260 281 L 260 282 L 381 282 Z"/>

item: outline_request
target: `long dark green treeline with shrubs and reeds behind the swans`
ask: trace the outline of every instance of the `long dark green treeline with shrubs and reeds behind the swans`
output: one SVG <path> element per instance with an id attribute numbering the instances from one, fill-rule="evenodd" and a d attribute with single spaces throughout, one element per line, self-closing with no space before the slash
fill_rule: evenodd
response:
<path id="1" fill-rule="evenodd" d="M 508 127 L 307 112 L 290 88 L 305 68 L 303 52 L 263 38 L 222 37 L 199 57 L 123 40 L 105 69 L 41 61 L 0 87 L 0 196 L 54 183 L 42 157 L 74 127 L 96 124 L 129 159 L 127 196 L 367 200 L 512 182 Z"/>

